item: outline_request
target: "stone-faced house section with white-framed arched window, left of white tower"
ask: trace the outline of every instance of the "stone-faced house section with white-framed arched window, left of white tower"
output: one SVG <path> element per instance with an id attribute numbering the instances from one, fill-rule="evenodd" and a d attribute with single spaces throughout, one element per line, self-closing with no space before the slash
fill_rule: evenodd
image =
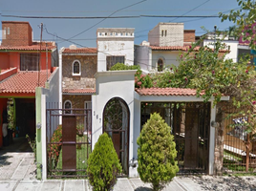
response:
<path id="1" fill-rule="evenodd" d="M 92 95 L 96 93 L 96 48 L 77 48 L 72 45 L 62 48 L 59 53 L 63 109 L 92 109 Z M 89 117 L 91 121 L 91 114 Z M 87 128 L 85 121 L 83 118 L 79 120 L 80 125 L 85 125 L 84 131 Z"/>

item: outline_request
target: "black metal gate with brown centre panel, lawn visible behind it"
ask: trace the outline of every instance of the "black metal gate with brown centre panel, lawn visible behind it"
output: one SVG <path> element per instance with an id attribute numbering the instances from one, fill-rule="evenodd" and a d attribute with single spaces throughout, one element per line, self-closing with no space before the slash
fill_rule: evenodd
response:
<path id="1" fill-rule="evenodd" d="M 91 109 L 46 110 L 48 178 L 87 177 L 91 113 Z"/>

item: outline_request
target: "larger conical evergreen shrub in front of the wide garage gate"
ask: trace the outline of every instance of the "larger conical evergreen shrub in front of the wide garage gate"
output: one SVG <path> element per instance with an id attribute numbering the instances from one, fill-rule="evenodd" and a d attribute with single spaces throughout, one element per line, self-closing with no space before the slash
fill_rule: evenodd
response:
<path id="1" fill-rule="evenodd" d="M 171 128 L 154 113 L 143 125 L 137 143 L 140 179 L 150 182 L 153 190 L 161 190 L 179 171 Z"/>

